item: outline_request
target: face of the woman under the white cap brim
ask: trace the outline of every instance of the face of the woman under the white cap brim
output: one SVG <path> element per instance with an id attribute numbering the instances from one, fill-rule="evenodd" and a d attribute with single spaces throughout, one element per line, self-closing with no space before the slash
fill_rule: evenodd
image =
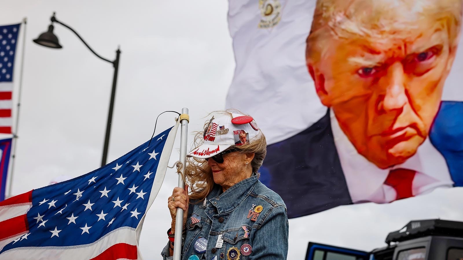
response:
<path id="1" fill-rule="evenodd" d="M 235 183 L 248 178 L 249 170 L 247 168 L 249 168 L 250 173 L 252 173 L 250 162 L 252 158 L 254 158 L 254 154 L 252 154 L 252 158 L 250 158 L 247 154 L 232 152 L 223 155 L 223 157 L 223 163 L 218 163 L 212 158 L 207 159 L 207 164 L 212 169 L 214 182 L 220 186 L 229 188 Z M 246 164 L 246 162 L 249 164 Z"/>

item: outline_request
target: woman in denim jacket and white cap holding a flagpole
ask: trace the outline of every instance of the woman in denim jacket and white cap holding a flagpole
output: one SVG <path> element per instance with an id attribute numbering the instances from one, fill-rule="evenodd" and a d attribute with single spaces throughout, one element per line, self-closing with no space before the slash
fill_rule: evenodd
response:
<path id="1" fill-rule="evenodd" d="M 235 145 L 246 133 L 249 142 Z M 250 116 L 217 112 L 196 136 L 185 170 L 188 185 L 169 197 L 173 254 L 177 208 L 183 209 L 182 260 L 281 260 L 288 253 L 288 216 L 282 198 L 258 179 L 265 136 Z"/>

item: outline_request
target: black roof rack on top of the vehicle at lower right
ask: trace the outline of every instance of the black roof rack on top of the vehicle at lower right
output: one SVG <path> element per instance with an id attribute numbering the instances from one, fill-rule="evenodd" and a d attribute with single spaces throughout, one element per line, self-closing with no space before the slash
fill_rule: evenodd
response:
<path id="1" fill-rule="evenodd" d="M 400 230 L 391 232 L 386 243 L 400 242 L 427 235 L 444 235 L 463 237 L 463 222 L 442 219 L 425 219 L 410 221 Z"/>

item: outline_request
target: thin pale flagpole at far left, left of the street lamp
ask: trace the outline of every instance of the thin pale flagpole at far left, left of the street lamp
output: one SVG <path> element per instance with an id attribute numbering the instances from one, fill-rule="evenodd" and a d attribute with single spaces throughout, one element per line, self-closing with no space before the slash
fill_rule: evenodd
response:
<path id="1" fill-rule="evenodd" d="M 16 143 L 18 142 L 18 126 L 19 126 L 19 107 L 21 105 L 21 91 L 23 89 L 23 72 L 24 72 L 24 54 L 25 54 L 25 39 L 26 39 L 26 25 L 27 17 L 23 19 L 23 50 L 21 54 L 21 69 L 19 70 L 19 88 L 18 88 L 18 105 L 16 109 L 16 122 L 14 124 L 13 132 L 13 155 L 11 156 L 11 171 L 10 171 L 10 183 L 8 185 L 8 198 L 11 197 L 11 190 L 13 186 L 13 174 L 14 174 L 14 158 L 16 157 Z"/>

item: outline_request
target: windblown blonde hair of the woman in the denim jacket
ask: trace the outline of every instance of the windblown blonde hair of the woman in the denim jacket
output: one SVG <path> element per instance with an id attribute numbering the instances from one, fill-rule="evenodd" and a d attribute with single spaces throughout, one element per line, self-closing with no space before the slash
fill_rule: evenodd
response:
<path id="1" fill-rule="evenodd" d="M 238 110 L 225 110 L 225 111 L 213 111 L 209 114 L 212 115 L 229 115 L 230 118 L 233 118 L 232 113 L 239 113 L 242 115 L 242 112 Z M 207 127 L 209 120 L 204 124 L 204 128 Z M 259 168 L 262 166 L 263 159 L 267 154 L 267 141 L 265 136 L 260 133 L 257 136 L 257 140 L 251 140 L 249 143 L 232 146 L 240 153 L 254 153 L 254 159 L 251 161 L 251 167 L 253 173 L 258 173 Z M 194 147 L 200 146 L 204 142 L 203 131 L 196 132 L 194 136 Z M 207 194 L 212 191 L 214 186 L 214 179 L 212 175 L 211 167 L 207 164 L 207 159 L 199 159 L 195 157 L 187 158 L 186 167 L 185 167 L 185 182 L 191 188 L 191 199 L 202 200 L 206 198 Z"/>

